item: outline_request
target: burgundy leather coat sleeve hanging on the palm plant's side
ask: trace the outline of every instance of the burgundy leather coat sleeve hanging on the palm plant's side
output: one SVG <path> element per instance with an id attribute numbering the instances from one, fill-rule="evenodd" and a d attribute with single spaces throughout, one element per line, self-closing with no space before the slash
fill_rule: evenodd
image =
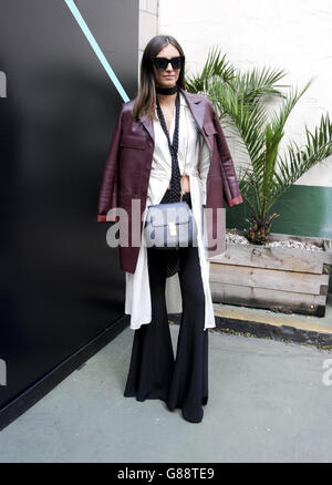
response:
<path id="1" fill-rule="evenodd" d="M 214 116 L 215 127 L 217 130 L 218 151 L 221 161 L 220 166 L 221 166 L 221 175 L 222 175 L 224 195 L 228 207 L 231 207 L 238 204 L 242 204 L 243 199 L 240 193 L 237 174 L 229 152 L 229 147 L 227 145 L 219 118 L 214 107 L 212 107 L 212 116 Z"/>

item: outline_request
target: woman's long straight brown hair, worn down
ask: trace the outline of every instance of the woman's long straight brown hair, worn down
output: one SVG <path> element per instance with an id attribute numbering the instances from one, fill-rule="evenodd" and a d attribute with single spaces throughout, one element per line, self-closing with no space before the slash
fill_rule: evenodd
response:
<path id="1" fill-rule="evenodd" d="M 174 45 L 178 50 L 180 55 L 185 55 L 180 44 L 172 35 L 155 35 L 147 43 L 143 52 L 141 61 L 139 87 L 132 112 L 135 121 L 138 121 L 138 117 L 143 114 L 147 114 L 151 120 L 156 120 L 156 85 L 152 58 L 154 55 L 157 55 L 158 52 L 160 52 L 160 50 L 168 44 Z M 183 90 L 186 89 L 185 63 L 181 66 L 176 84 Z"/>

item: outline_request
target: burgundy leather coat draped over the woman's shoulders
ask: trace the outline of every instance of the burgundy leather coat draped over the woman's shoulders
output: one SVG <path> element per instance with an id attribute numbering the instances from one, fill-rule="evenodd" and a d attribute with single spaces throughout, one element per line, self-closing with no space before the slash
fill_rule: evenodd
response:
<path id="1" fill-rule="evenodd" d="M 229 207 L 241 204 L 234 162 L 222 133 L 219 118 L 210 100 L 204 95 L 191 94 L 180 89 L 181 94 L 190 109 L 199 131 L 210 149 L 210 167 L 206 182 L 206 206 L 214 215 L 207 218 L 208 241 L 217 236 L 217 208 L 224 208 L 224 197 Z M 117 124 L 114 130 L 104 175 L 100 189 L 97 221 L 105 221 L 110 209 L 121 207 L 127 211 L 129 223 L 128 247 L 120 247 L 121 269 L 134 274 L 139 247 L 131 244 L 132 199 L 141 202 L 141 235 L 143 230 L 142 215 L 146 206 L 149 173 L 154 153 L 153 122 L 147 115 L 141 116 L 138 122 L 132 117 L 131 111 L 134 100 L 123 103 Z M 107 217 L 107 220 L 117 221 L 121 217 Z M 225 239 L 225 230 L 222 237 Z M 218 234 L 220 231 L 218 230 Z M 226 242 L 222 248 L 225 250 Z M 209 256 L 216 256 L 212 245 Z M 224 250 L 219 250 L 222 252 Z M 217 252 L 218 254 L 218 252 Z"/>

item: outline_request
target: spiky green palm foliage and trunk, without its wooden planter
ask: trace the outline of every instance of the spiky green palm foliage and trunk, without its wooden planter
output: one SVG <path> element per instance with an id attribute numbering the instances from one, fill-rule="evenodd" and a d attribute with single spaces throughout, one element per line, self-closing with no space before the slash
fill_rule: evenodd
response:
<path id="1" fill-rule="evenodd" d="M 311 132 L 305 125 L 305 144 L 300 147 L 290 142 L 281 155 L 280 143 L 292 110 L 313 82 L 313 78 L 299 90 L 280 84 L 286 71 L 272 68 L 236 70 L 214 49 L 200 74 L 186 79 L 187 90 L 204 93 L 212 102 L 220 123 L 250 163 L 240 167 L 239 188 L 252 211 L 249 233 L 262 241 L 270 231 L 277 213 L 268 211 L 291 185 L 317 163 L 332 155 L 332 123 L 329 114 Z M 284 94 L 282 89 L 287 87 Z M 269 99 L 279 99 L 272 113 Z M 256 224 L 257 223 L 257 224 Z M 256 239 L 257 238 L 257 239 Z M 261 242 L 258 242 L 261 244 Z"/>

